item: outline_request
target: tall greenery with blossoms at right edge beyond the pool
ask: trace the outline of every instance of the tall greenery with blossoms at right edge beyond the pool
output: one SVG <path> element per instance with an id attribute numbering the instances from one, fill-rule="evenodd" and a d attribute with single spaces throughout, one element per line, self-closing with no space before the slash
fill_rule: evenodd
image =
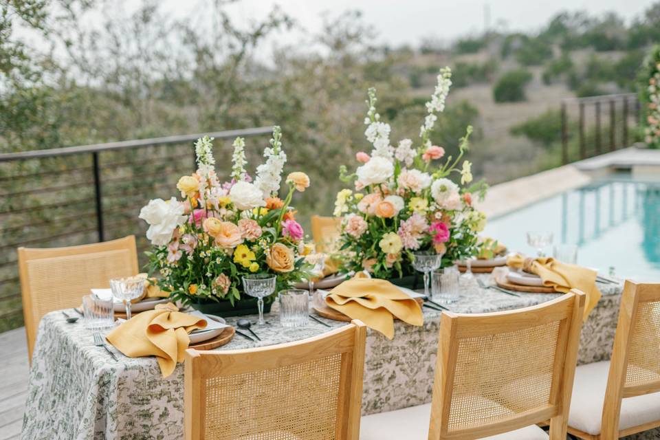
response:
<path id="1" fill-rule="evenodd" d="M 660 148 L 660 45 L 655 45 L 643 65 L 641 102 L 646 107 L 644 142 Z"/>

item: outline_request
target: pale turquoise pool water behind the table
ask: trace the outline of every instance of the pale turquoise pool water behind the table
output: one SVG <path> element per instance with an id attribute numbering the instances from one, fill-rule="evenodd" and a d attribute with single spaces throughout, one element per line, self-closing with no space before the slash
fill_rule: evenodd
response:
<path id="1" fill-rule="evenodd" d="M 536 255 L 529 230 L 578 245 L 577 263 L 602 274 L 660 282 L 660 176 L 611 175 L 491 219 L 484 234 L 509 251 Z"/>

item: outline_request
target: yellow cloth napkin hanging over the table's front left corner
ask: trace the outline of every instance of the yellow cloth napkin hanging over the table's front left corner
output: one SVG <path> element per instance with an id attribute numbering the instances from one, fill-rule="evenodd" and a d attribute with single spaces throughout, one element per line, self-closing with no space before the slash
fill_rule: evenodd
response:
<path id="1" fill-rule="evenodd" d="M 188 333 L 204 327 L 206 320 L 181 313 L 175 305 L 167 303 L 123 322 L 106 339 L 129 358 L 155 356 L 163 377 L 168 377 L 177 362 L 184 360 L 190 344 Z"/>

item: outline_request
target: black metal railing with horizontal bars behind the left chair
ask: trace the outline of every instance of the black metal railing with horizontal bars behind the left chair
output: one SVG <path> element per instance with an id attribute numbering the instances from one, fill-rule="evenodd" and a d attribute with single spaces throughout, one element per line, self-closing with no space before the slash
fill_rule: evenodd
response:
<path id="1" fill-rule="evenodd" d="M 195 169 L 193 142 L 203 135 L 215 137 L 219 172 L 228 175 L 228 140 L 271 132 L 267 126 L 0 154 L 0 331 L 22 322 L 18 247 L 78 245 L 135 234 L 144 263 L 142 251 L 149 243 L 137 214 L 149 199 L 176 195 L 177 179 Z M 246 148 L 248 159 L 256 159 L 262 149 Z"/>

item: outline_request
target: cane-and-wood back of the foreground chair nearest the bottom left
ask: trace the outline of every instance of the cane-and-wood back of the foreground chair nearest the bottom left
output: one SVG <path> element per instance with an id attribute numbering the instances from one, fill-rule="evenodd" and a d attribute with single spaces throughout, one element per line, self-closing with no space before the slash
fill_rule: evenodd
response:
<path id="1" fill-rule="evenodd" d="M 186 440 L 357 440 L 366 327 L 234 351 L 188 349 Z"/>

